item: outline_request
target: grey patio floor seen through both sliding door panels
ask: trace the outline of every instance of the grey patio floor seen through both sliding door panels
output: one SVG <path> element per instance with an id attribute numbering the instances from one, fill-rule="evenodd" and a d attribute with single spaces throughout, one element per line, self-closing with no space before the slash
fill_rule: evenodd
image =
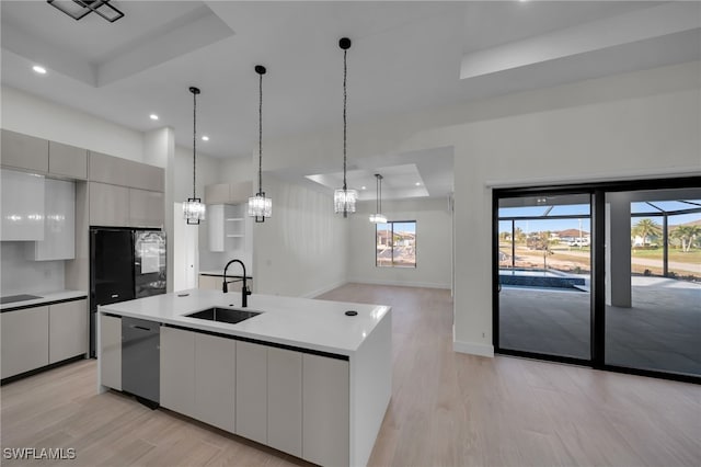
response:
<path id="1" fill-rule="evenodd" d="M 632 277 L 632 308 L 607 307 L 606 363 L 701 375 L 701 285 Z M 503 287 L 503 349 L 589 358 L 589 294 Z"/>

